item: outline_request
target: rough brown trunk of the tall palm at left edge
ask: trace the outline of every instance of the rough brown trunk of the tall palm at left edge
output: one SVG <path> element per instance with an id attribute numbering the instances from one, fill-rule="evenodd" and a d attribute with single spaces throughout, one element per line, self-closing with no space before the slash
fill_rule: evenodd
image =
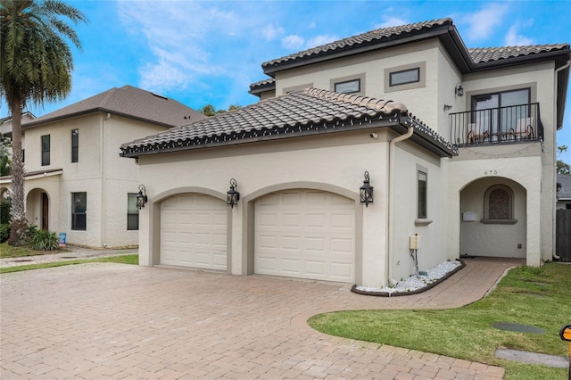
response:
<path id="1" fill-rule="evenodd" d="M 28 235 L 28 221 L 24 207 L 24 163 L 21 155 L 21 105 L 11 105 L 12 112 L 12 207 L 10 210 L 10 238 L 8 244 L 25 244 Z"/>

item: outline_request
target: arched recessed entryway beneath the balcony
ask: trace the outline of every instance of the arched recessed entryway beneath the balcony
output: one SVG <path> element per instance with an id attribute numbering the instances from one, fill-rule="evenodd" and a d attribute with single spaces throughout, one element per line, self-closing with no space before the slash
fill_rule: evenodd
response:
<path id="1" fill-rule="evenodd" d="M 478 178 L 460 192 L 460 257 L 526 257 L 527 193 L 509 178 Z"/>

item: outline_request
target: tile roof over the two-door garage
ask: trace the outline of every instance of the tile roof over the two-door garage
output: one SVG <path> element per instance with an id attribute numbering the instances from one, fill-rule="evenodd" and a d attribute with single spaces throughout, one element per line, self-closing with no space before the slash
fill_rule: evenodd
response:
<path id="1" fill-rule="evenodd" d="M 121 145 L 121 155 L 138 157 L 204 146 L 236 145 L 357 128 L 400 127 L 403 124 L 414 125 L 418 136 L 437 146 L 439 153 L 450 156 L 456 152 L 441 136 L 409 116 L 402 103 L 306 88 Z"/>

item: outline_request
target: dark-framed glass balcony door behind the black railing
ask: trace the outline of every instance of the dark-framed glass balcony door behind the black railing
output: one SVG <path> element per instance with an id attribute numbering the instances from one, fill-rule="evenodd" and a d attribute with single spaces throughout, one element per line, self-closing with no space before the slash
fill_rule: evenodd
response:
<path id="1" fill-rule="evenodd" d="M 517 120 L 529 116 L 530 92 L 523 88 L 472 96 L 473 122 L 479 130 L 488 131 L 491 141 L 506 139 Z"/>

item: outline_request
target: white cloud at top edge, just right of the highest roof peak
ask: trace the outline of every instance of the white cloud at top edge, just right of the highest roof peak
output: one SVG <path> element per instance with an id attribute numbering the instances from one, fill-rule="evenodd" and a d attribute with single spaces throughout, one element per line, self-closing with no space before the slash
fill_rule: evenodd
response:
<path id="1" fill-rule="evenodd" d="M 507 19 L 504 15 L 509 11 L 509 3 L 491 3 L 478 12 L 464 16 L 462 19 L 468 23 L 466 37 L 472 41 L 483 40 L 490 37 L 494 27 L 501 25 Z"/>

